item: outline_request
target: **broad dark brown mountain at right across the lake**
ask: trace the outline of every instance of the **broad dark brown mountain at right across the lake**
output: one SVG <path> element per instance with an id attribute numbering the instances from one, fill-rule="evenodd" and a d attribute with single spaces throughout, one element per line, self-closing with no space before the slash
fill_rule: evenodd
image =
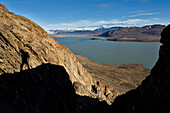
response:
<path id="1" fill-rule="evenodd" d="M 159 41 L 165 25 L 148 25 L 143 27 L 119 27 L 101 34 L 110 41 Z"/>

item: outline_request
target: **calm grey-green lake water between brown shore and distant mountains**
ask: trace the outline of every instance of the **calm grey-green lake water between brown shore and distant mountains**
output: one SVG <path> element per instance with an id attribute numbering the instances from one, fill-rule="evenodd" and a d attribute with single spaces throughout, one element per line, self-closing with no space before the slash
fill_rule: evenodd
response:
<path id="1" fill-rule="evenodd" d="M 158 59 L 158 42 L 117 42 L 90 40 L 92 37 L 54 38 L 73 53 L 104 64 L 143 64 L 151 69 Z"/>

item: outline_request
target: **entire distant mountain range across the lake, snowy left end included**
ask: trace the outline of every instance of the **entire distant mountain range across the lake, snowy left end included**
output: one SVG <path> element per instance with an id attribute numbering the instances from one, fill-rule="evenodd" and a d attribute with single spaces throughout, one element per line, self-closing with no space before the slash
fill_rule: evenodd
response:
<path id="1" fill-rule="evenodd" d="M 165 25 L 142 27 L 100 27 L 94 30 L 47 30 L 52 37 L 96 37 L 92 40 L 158 42 Z M 101 38 L 105 37 L 105 38 Z"/>

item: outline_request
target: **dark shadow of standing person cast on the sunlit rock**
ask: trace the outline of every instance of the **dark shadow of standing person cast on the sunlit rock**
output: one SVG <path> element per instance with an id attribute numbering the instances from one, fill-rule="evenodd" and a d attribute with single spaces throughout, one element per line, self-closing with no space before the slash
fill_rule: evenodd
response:
<path id="1" fill-rule="evenodd" d="M 24 64 L 26 64 L 28 69 L 30 69 L 29 64 L 28 64 L 28 58 L 29 58 L 28 52 L 25 52 L 24 50 L 21 49 L 20 53 L 21 53 L 21 57 L 22 57 L 22 63 L 21 63 L 21 66 L 20 66 L 20 70 L 23 69 Z"/>

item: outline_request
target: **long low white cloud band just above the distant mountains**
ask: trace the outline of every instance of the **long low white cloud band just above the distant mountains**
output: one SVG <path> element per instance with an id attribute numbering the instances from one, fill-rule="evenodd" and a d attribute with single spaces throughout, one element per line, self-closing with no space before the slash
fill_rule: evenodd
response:
<path id="1" fill-rule="evenodd" d="M 46 27 L 50 29 L 80 29 L 80 28 L 88 28 L 94 29 L 97 27 L 110 27 L 110 26 L 137 26 L 140 23 L 150 22 L 150 19 L 128 19 L 125 21 L 113 19 L 113 20 L 101 20 L 101 21 L 91 21 L 91 20 L 79 20 L 76 22 L 70 23 L 59 23 L 59 24 L 50 24 Z"/>

